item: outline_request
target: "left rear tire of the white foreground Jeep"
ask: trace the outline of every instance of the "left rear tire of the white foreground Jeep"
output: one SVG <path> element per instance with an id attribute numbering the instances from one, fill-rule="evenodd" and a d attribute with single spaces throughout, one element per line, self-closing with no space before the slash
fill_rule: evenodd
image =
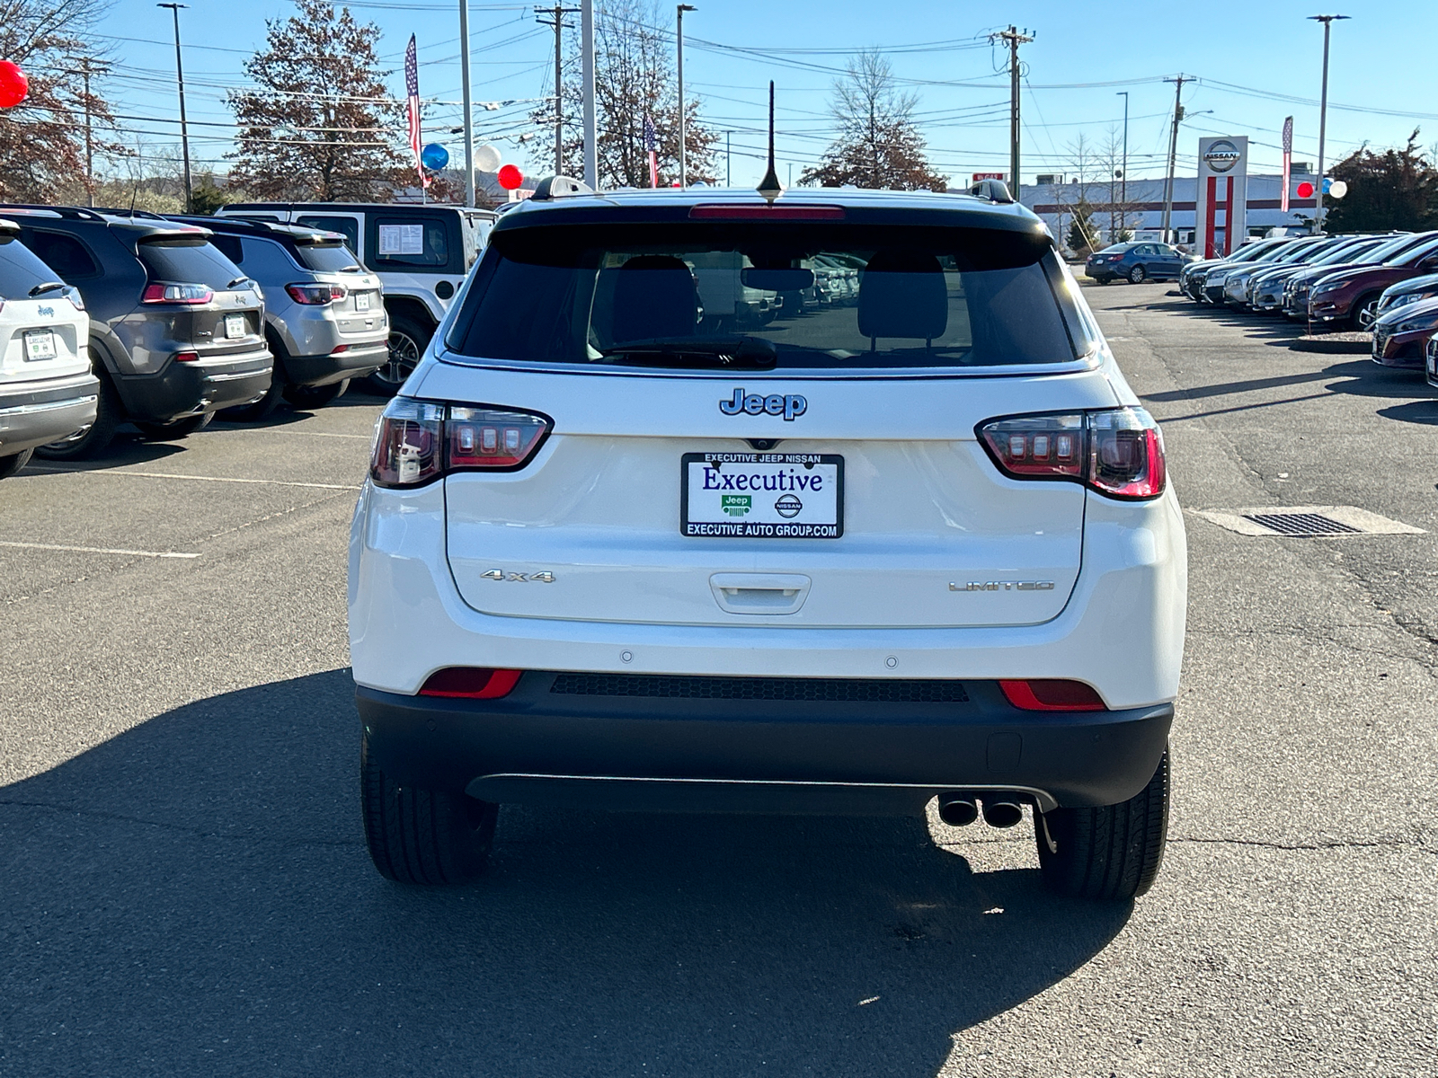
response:
<path id="1" fill-rule="evenodd" d="M 479 875 L 499 805 L 463 793 L 397 786 L 360 742 L 360 799 L 370 860 L 401 884 L 462 884 Z"/>

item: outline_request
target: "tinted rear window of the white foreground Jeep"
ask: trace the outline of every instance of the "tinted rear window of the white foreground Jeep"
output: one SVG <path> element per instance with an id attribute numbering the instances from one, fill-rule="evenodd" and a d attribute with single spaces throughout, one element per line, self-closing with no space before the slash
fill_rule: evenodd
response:
<path id="1" fill-rule="evenodd" d="M 1047 236 L 850 224 L 500 230 L 450 332 L 487 359 L 634 362 L 728 345 L 775 369 L 998 367 L 1090 351 Z M 739 349 L 741 344 L 745 349 Z M 713 364 L 692 364 L 709 365 Z"/>

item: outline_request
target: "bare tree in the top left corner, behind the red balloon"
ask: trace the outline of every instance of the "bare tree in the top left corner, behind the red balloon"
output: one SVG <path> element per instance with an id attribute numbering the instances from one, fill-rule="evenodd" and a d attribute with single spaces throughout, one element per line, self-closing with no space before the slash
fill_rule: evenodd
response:
<path id="1" fill-rule="evenodd" d="M 62 187 L 89 181 L 85 167 L 85 115 L 92 128 L 114 131 L 109 105 L 91 79 L 89 30 L 105 13 L 104 0 L 0 0 L 0 57 L 26 72 L 30 95 L 0 109 L 0 198 L 49 201 Z M 96 154 L 119 147 L 93 142 Z"/>

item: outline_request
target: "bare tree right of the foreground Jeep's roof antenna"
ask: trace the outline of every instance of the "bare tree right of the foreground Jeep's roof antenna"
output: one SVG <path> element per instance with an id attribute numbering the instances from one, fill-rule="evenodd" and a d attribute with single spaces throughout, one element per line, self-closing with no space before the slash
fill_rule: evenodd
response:
<path id="1" fill-rule="evenodd" d="M 838 137 L 801 184 L 820 187 L 887 188 L 897 191 L 948 188 L 948 177 L 929 167 L 923 137 L 913 122 L 919 99 L 894 86 L 889 60 L 877 50 L 856 56 L 834 83 L 830 112 Z"/>

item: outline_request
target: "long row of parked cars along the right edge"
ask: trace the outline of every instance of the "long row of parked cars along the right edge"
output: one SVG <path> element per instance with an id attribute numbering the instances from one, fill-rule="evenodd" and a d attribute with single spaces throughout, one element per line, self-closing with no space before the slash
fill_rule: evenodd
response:
<path id="1" fill-rule="evenodd" d="M 1375 362 L 1424 368 L 1438 385 L 1438 230 L 1261 240 L 1192 263 L 1179 287 L 1198 303 L 1369 332 Z"/>

